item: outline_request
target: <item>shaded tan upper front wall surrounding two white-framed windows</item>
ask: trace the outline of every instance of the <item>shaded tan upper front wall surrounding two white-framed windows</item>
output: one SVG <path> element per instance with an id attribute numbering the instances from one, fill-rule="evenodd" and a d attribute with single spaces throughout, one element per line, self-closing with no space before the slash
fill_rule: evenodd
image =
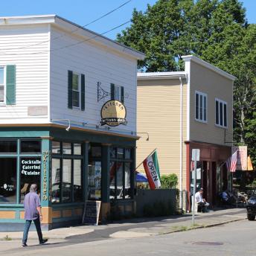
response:
<path id="1" fill-rule="evenodd" d="M 195 120 L 196 90 L 208 97 L 207 124 Z M 215 125 L 215 97 L 227 103 L 226 141 L 232 141 L 232 81 L 191 61 L 191 141 L 227 145 L 224 143 L 225 129 Z"/>

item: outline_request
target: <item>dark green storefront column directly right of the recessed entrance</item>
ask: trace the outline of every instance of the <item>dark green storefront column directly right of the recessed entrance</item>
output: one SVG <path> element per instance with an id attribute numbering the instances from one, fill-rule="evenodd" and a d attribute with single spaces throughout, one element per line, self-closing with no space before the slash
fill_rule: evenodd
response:
<path id="1" fill-rule="evenodd" d="M 101 165 L 101 220 L 106 220 L 110 211 L 109 199 L 109 165 L 110 165 L 110 146 L 102 144 L 102 165 Z"/>

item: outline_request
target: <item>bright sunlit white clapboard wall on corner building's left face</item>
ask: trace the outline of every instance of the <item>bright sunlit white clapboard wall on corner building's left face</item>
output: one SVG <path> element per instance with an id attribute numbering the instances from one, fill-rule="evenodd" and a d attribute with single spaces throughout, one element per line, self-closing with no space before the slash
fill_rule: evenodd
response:
<path id="1" fill-rule="evenodd" d="M 16 104 L 0 106 L 0 124 L 38 124 L 28 106 L 48 105 L 48 25 L 4 26 L 0 29 L 0 65 L 16 65 Z"/>

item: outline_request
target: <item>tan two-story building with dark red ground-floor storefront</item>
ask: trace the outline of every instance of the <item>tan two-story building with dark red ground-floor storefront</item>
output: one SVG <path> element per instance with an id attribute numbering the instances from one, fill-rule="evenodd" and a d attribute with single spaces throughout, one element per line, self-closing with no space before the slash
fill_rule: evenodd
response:
<path id="1" fill-rule="evenodd" d="M 138 73 L 138 132 L 150 140 L 137 144 L 137 164 L 157 149 L 161 175 L 176 173 L 180 207 L 191 208 L 192 150 L 200 150 L 196 190 L 217 204 L 217 195 L 231 188 L 223 161 L 233 141 L 235 77 L 203 60 L 184 56 L 185 71 Z M 143 170 L 141 170 L 143 172 Z"/>

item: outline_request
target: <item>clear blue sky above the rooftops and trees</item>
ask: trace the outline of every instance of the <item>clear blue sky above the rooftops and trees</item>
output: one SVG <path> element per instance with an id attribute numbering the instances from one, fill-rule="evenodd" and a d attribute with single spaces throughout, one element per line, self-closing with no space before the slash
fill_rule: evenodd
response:
<path id="1" fill-rule="evenodd" d="M 7 0 L 1 1 L 0 16 L 24 16 L 24 15 L 42 15 L 57 14 L 71 22 L 84 26 L 94 21 L 100 16 L 109 13 L 128 0 Z M 249 23 L 256 23 L 256 0 L 241 0 L 243 7 L 246 7 L 246 15 Z M 156 0 L 131 0 L 123 7 L 105 16 L 103 19 L 86 26 L 86 28 L 97 33 L 104 33 L 116 28 L 132 17 L 132 10 L 146 10 L 147 4 L 153 5 Z M 115 39 L 117 33 L 124 28 L 124 25 L 109 33 L 104 34 L 111 39 Z"/>

